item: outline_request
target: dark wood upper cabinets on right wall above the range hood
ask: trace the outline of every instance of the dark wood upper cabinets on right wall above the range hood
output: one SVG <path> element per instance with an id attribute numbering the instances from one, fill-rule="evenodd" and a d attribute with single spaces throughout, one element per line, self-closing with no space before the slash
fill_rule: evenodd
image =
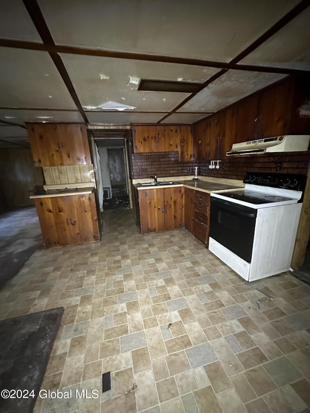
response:
<path id="1" fill-rule="evenodd" d="M 309 134 L 297 108 L 310 98 L 309 79 L 287 77 L 193 125 L 196 158 L 225 159 L 233 143 L 287 134 Z"/>

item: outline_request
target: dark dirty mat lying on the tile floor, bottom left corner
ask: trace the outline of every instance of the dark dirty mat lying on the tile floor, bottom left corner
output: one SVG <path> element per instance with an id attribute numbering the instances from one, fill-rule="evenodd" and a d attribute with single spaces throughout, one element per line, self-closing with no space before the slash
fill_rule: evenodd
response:
<path id="1" fill-rule="evenodd" d="M 16 392 L 16 398 L 0 397 L 1 413 L 32 412 L 62 313 L 59 307 L 0 321 L 0 392 L 6 389 L 13 396 L 14 390 L 23 392 Z"/>

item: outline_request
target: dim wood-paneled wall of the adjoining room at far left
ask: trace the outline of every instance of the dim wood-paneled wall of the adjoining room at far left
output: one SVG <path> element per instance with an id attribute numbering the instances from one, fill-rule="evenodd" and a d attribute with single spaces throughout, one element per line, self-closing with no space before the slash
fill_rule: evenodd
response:
<path id="1" fill-rule="evenodd" d="M 5 205 L 15 208 L 33 205 L 29 199 L 35 186 L 44 184 L 41 168 L 35 168 L 30 149 L 3 148 L 0 149 L 0 180 L 3 189 Z"/>

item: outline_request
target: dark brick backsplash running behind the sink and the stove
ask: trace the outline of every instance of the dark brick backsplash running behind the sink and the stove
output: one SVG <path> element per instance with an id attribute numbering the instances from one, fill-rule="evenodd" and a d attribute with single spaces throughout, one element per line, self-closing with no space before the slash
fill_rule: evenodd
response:
<path id="1" fill-rule="evenodd" d="M 179 161 L 178 152 L 133 153 L 133 178 L 193 175 L 199 166 L 199 174 L 217 178 L 242 179 L 247 171 L 276 172 L 276 163 L 282 162 L 281 173 L 307 174 L 310 153 L 265 154 L 232 156 L 220 163 L 219 169 L 209 169 L 210 161 Z M 224 168 L 222 168 L 224 166 Z M 189 170 L 187 170 L 189 168 Z"/>

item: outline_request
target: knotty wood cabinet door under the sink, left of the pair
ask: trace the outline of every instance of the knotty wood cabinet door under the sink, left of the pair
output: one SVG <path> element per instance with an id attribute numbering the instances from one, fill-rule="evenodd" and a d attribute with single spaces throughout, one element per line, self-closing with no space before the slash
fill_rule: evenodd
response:
<path id="1" fill-rule="evenodd" d="M 165 229 L 164 188 L 139 190 L 141 232 Z"/>

